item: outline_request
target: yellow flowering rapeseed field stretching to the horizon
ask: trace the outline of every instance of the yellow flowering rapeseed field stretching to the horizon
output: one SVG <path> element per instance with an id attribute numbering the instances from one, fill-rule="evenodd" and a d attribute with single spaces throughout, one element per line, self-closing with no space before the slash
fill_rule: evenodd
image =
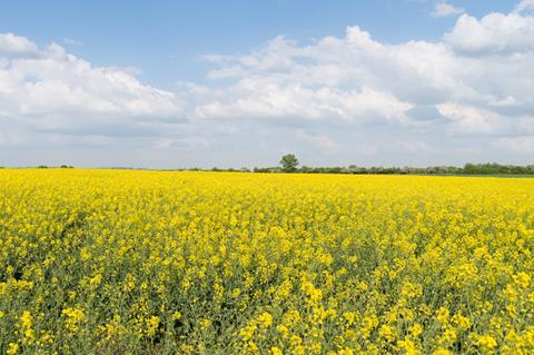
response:
<path id="1" fill-rule="evenodd" d="M 527 354 L 534 179 L 0 170 L 0 353 Z"/>

